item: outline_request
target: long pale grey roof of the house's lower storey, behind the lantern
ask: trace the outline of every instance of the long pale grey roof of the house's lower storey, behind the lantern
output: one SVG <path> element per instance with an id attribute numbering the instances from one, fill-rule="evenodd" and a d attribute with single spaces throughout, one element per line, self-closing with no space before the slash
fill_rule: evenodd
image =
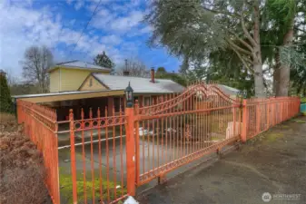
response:
<path id="1" fill-rule="evenodd" d="M 110 90 L 125 89 L 129 83 L 136 93 L 171 93 L 183 92 L 184 87 L 172 80 L 155 79 L 152 83 L 149 78 L 133 77 L 133 76 L 114 76 L 102 73 L 92 73 L 94 78 L 100 83 L 107 86 Z"/>

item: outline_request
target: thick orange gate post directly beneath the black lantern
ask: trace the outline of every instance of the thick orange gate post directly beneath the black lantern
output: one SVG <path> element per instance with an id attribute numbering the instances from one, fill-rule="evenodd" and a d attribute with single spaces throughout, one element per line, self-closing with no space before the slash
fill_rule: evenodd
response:
<path id="1" fill-rule="evenodd" d="M 130 196 L 135 196 L 135 139 L 134 139 L 134 112 L 133 107 L 125 108 L 127 118 L 126 133 L 126 177 L 127 192 Z M 136 130 L 138 131 L 138 130 Z"/>

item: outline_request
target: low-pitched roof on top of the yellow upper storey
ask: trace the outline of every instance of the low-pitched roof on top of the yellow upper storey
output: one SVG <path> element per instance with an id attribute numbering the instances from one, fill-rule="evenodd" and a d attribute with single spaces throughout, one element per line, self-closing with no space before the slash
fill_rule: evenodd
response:
<path id="1" fill-rule="evenodd" d="M 59 68 L 59 67 L 64 67 L 64 68 L 70 68 L 70 69 L 82 69 L 82 70 L 96 70 L 96 71 L 111 71 L 111 69 L 96 65 L 94 63 L 87 63 L 79 60 L 74 60 L 74 61 L 69 61 L 69 62 L 64 62 L 64 63 L 55 63 L 55 66 L 51 68 L 48 72 L 50 73 L 51 71 Z"/>

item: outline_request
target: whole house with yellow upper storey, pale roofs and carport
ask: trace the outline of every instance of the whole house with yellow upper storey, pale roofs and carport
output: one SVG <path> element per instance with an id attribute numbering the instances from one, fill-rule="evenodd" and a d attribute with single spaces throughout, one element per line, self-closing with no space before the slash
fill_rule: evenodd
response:
<path id="1" fill-rule="evenodd" d="M 83 108 L 88 117 L 88 110 L 92 108 L 94 116 L 98 108 L 101 115 L 112 116 L 124 108 L 124 90 L 131 83 L 134 100 L 140 106 L 156 103 L 158 97 L 166 94 L 178 94 L 184 87 L 168 79 L 155 79 L 155 72 L 151 70 L 151 78 L 110 75 L 111 69 L 85 63 L 71 61 L 57 63 L 49 70 L 50 92 L 14 96 L 28 102 L 41 103 L 56 110 L 58 121 L 68 120 L 68 112 L 74 110 L 74 118 L 81 117 Z M 222 92 L 234 95 L 238 90 L 218 84 Z"/>

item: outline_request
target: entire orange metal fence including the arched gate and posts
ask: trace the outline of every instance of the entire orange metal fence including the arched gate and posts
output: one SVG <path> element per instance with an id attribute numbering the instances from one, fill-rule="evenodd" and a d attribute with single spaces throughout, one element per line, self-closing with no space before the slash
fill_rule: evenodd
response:
<path id="1" fill-rule="evenodd" d="M 236 100 L 214 84 L 196 83 L 181 94 L 154 97 L 153 105 L 135 102 L 118 114 L 113 108 L 108 117 L 82 109 L 81 115 L 71 110 L 69 121 L 56 121 L 53 110 L 23 101 L 17 110 L 25 134 L 44 153 L 54 203 L 114 203 L 134 196 L 137 186 L 290 119 L 299 104 L 297 97 Z M 58 138 L 69 141 L 58 148 Z"/>

